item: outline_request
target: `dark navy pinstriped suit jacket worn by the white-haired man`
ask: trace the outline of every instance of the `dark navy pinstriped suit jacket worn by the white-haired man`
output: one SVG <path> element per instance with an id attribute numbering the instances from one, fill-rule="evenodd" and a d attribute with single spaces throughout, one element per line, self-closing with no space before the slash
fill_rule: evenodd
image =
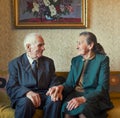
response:
<path id="1" fill-rule="evenodd" d="M 42 56 L 38 59 L 38 80 L 32 73 L 26 54 L 12 60 L 9 63 L 9 80 L 6 85 L 12 106 L 17 99 L 25 97 L 28 91 L 46 93 L 54 79 L 54 62 L 48 57 Z"/>

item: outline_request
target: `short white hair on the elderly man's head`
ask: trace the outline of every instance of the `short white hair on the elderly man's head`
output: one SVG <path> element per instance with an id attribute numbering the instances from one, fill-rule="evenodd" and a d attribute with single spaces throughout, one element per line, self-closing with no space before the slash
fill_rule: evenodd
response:
<path id="1" fill-rule="evenodd" d="M 36 43 L 36 38 L 41 37 L 39 33 L 29 33 L 25 36 L 24 38 L 24 48 L 26 50 L 26 44 L 35 44 Z"/>

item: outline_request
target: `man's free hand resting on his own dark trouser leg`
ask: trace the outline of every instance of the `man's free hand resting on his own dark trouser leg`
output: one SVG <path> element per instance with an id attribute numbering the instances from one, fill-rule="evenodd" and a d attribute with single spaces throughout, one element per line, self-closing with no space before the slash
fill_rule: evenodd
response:
<path id="1" fill-rule="evenodd" d="M 35 93 L 33 91 L 29 91 L 26 94 L 26 97 L 28 97 L 32 101 L 32 103 L 34 104 L 34 106 L 36 108 L 41 105 L 41 98 L 40 98 L 40 95 L 38 93 Z"/>

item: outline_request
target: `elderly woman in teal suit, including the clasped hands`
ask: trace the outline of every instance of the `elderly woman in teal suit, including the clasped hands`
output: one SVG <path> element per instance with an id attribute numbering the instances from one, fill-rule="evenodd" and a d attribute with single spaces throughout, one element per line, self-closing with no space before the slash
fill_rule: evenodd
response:
<path id="1" fill-rule="evenodd" d="M 113 107 L 109 98 L 109 57 L 91 32 L 82 32 L 66 82 L 49 89 L 53 101 L 62 100 L 62 117 L 106 118 Z"/>

